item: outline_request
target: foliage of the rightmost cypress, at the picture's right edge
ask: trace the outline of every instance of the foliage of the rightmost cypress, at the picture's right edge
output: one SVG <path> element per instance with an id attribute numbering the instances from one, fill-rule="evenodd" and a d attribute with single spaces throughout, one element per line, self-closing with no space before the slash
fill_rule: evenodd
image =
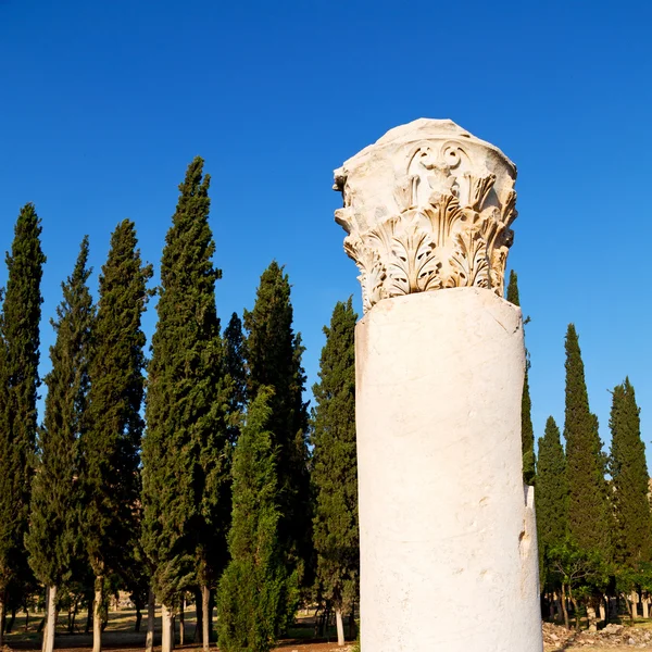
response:
<path id="1" fill-rule="evenodd" d="M 641 422 L 629 378 L 613 392 L 609 471 L 617 524 L 617 559 L 629 568 L 652 561 L 652 515 L 648 501 L 648 465 Z"/>

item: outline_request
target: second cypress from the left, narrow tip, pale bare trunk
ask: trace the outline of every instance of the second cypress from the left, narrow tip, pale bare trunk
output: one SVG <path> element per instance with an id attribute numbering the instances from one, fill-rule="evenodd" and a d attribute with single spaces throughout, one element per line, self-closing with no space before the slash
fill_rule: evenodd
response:
<path id="1" fill-rule="evenodd" d="M 51 319 L 57 341 L 46 376 L 46 416 L 40 429 L 40 463 L 32 486 L 29 531 L 25 546 L 37 579 L 49 588 L 46 652 L 54 645 L 54 602 L 71 579 L 79 555 L 77 442 L 85 424 L 88 360 L 95 308 L 88 289 L 88 237 L 73 274 L 62 284 L 63 300 Z"/>

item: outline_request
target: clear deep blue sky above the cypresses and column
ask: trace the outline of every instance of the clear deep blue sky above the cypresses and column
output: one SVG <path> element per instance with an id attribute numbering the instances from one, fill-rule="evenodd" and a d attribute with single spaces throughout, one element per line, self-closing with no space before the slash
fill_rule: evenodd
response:
<path id="1" fill-rule="evenodd" d="M 629 375 L 652 449 L 651 26 L 645 0 L 0 0 L 0 250 L 35 202 L 49 344 L 84 234 L 99 271 L 131 217 L 158 267 L 200 154 L 218 312 L 251 308 L 262 271 L 285 264 L 312 385 L 335 302 L 360 312 L 333 170 L 396 125 L 450 117 L 518 165 L 510 265 L 537 437 L 549 414 L 563 426 L 574 322 L 603 440 L 607 390 Z"/>

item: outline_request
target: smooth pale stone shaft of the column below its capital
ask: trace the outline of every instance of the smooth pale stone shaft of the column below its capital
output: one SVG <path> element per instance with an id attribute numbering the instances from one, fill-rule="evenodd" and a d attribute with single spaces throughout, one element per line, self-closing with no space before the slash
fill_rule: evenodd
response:
<path id="1" fill-rule="evenodd" d="M 355 331 L 363 652 L 540 652 L 521 310 L 380 301 Z"/>

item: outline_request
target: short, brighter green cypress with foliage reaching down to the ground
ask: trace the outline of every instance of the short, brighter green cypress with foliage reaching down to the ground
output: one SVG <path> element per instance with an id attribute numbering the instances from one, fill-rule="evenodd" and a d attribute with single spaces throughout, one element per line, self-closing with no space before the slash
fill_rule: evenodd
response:
<path id="1" fill-rule="evenodd" d="M 266 652 L 287 614 L 288 577 L 278 540 L 277 448 L 269 430 L 272 390 L 260 387 L 247 413 L 233 466 L 229 562 L 217 601 L 223 652 Z"/>

